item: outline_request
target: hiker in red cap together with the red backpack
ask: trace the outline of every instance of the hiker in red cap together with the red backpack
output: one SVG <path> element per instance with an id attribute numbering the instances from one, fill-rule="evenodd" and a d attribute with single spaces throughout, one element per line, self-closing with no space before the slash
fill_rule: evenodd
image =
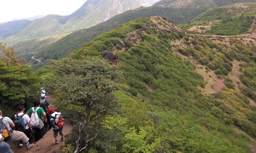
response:
<path id="1" fill-rule="evenodd" d="M 47 110 L 47 112 L 49 114 L 51 114 L 51 119 L 50 119 L 50 122 L 52 124 L 52 127 L 53 127 L 53 137 L 55 138 L 55 144 L 58 144 L 58 140 L 57 140 L 57 137 L 58 137 L 58 133 L 59 135 L 61 136 L 61 141 L 64 141 L 64 134 L 63 134 L 63 125 L 65 125 L 65 122 L 63 121 L 63 119 L 59 116 L 60 113 L 58 112 L 55 112 L 53 108 L 49 108 Z M 62 119 L 62 124 L 60 123 L 59 119 L 57 118 L 60 117 Z M 59 123 L 61 125 L 59 125 Z"/>

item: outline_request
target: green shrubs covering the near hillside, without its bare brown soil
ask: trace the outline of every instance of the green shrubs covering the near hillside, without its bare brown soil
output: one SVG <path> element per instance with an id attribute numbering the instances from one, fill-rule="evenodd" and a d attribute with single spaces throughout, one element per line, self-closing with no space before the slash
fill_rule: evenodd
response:
<path id="1" fill-rule="evenodd" d="M 144 33 L 142 29 L 138 29 L 138 25 L 151 24 L 147 30 L 153 31 L 156 25 L 152 19 L 156 22 L 161 20 L 160 17 L 153 17 L 131 21 L 104 33 L 70 54 L 70 57 L 77 59 L 86 58 L 83 56 L 101 59 L 101 49 L 108 46 L 104 42 L 116 39 L 117 35 L 112 37 L 111 34 L 132 33 L 133 37 L 137 37 L 137 40 L 130 41 L 133 45 L 126 52 L 113 51 L 118 57 L 116 67 L 120 68 L 124 77 L 119 83 L 121 90 L 113 93 L 122 111 L 100 116 L 93 122 L 96 128 L 90 130 L 90 135 L 98 136 L 92 140 L 86 151 L 249 152 L 250 139 L 236 133 L 231 126 L 237 125 L 251 136 L 254 135 L 253 131 L 249 132 L 253 125 L 249 120 L 253 119 L 253 111 L 248 107 L 248 99 L 229 89 L 221 90 L 214 96 L 203 96 L 197 88 L 204 88 L 203 77 L 194 71 L 194 64 L 174 54 L 172 49 L 176 46 L 170 45 L 173 37 L 168 37 L 168 33 L 160 28 L 159 34 Z M 170 29 L 174 26 L 162 22 L 163 25 Z M 227 69 L 232 64 L 222 54 L 225 47 L 212 43 L 205 37 L 191 36 L 199 45 L 199 50 L 192 47 L 175 49 L 188 56 L 197 54 L 197 60 L 203 57 L 205 61 L 211 61 L 221 73 L 228 73 Z M 188 37 L 186 33 L 184 37 Z M 212 43 L 218 49 L 211 49 L 206 42 Z M 211 53 L 211 58 L 208 53 Z M 68 67 L 76 69 L 76 64 Z M 65 80 L 67 79 L 63 79 L 63 82 Z M 227 82 L 230 83 L 230 80 Z M 84 112 L 80 107 L 71 105 L 68 109 L 75 114 Z M 236 112 L 243 117 L 233 115 Z M 248 116 L 248 119 L 244 116 Z M 67 143 L 74 145 L 77 137 L 76 133 L 72 133 Z M 86 142 L 85 137 L 82 132 L 81 142 Z"/>

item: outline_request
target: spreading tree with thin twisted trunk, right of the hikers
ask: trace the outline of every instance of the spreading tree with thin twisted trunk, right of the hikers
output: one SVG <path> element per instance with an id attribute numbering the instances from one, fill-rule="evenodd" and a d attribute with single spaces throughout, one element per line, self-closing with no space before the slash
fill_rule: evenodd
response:
<path id="1" fill-rule="evenodd" d="M 81 152 L 97 136 L 89 135 L 96 120 L 118 106 L 113 92 L 118 89 L 120 73 L 115 65 L 93 58 L 67 58 L 51 61 L 51 65 L 56 75 L 52 80 L 54 95 L 65 108 L 70 108 L 67 112 L 75 123 L 74 152 Z"/>

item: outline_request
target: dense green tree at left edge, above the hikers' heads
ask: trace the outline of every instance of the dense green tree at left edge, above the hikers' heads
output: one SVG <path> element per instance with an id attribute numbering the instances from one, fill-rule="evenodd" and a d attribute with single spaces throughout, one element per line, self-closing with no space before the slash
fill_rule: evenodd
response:
<path id="1" fill-rule="evenodd" d="M 21 62 L 12 47 L 0 43 L 0 106 L 9 116 L 17 105 L 32 104 L 38 94 L 38 77 Z"/>

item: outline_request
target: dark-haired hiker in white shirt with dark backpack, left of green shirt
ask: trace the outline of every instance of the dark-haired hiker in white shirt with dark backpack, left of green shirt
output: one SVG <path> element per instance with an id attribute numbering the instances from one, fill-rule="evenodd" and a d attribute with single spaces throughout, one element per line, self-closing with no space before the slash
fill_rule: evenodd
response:
<path id="1" fill-rule="evenodd" d="M 23 105 L 18 106 L 19 113 L 14 116 L 14 123 L 17 131 L 24 132 L 25 135 L 29 138 L 29 143 L 32 143 L 32 126 L 30 124 L 30 117 L 27 114 L 24 114 L 25 108 Z M 22 121 L 19 120 L 19 118 L 22 118 L 24 121 L 25 127 L 22 124 Z M 19 146 L 23 146 L 22 143 L 19 144 Z"/>

